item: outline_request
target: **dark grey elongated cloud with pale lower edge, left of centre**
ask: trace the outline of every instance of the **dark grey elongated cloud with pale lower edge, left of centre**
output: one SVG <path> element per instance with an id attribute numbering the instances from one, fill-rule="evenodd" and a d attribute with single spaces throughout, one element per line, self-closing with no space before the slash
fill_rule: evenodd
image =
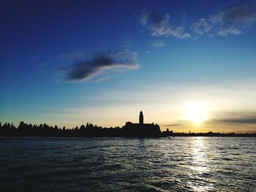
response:
<path id="1" fill-rule="evenodd" d="M 64 74 L 66 81 L 87 81 L 96 78 L 99 82 L 110 77 L 106 73 L 114 74 L 138 69 L 140 65 L 135 63 L 136 58 L 137 53 L 130 53 L 129 50 L 124 49 L 98 52 L 94 53 L 91 59 L 63 67 L 59 72 Z"/>

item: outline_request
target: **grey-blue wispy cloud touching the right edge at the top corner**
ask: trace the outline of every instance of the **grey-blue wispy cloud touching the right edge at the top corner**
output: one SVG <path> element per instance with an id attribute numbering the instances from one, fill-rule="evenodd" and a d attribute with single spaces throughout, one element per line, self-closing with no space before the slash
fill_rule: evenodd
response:
<path id="1" fill-rule="evenodd" d="M 192 24 L 195 34 L 210 34 L 225 37 L 244 34 L 256 22 L 256 4 L 242 4 L 222 9 L 208 18 L 200 18 Z"/>

